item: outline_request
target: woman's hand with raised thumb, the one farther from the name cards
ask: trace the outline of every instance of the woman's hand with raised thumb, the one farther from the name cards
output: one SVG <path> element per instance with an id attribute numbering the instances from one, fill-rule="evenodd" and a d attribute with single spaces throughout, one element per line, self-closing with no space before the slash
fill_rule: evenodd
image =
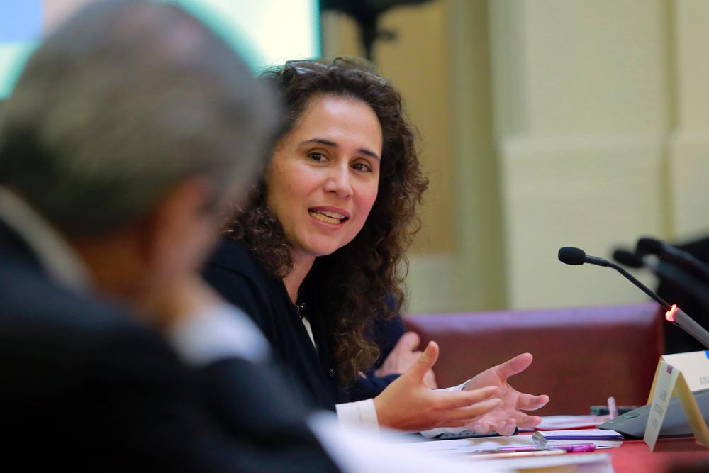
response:
<path id="1" fill-rule="evenodd" d="M 424 378 L 436 360 L 438 345 L 429 342 L 418 360 L 374 398 L 379 425 L 408 431 L 460 427 L 503 406 L 498 386 L 456 392 L 430 389 Z"/>

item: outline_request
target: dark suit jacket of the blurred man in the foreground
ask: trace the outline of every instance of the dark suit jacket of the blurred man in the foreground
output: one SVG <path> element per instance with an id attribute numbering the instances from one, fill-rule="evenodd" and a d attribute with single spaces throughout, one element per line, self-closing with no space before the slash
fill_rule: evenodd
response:
<path id="1" fill-rule="evenodd" d="M 335 471 L 268 366 L 186 366 L 116 304 L 52 282 L 0 223 L 3 462 L 97 471 Z"/>

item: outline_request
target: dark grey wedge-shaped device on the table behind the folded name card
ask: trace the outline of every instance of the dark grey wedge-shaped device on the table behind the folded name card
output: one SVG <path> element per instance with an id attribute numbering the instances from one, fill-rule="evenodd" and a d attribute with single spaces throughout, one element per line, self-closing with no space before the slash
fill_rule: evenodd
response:
<path id="1" fill-rule="evenodd" d="M 697 401 L 699 411 L 704 416 L 704 421 L 709 423 L 709 389 L 694 391 L 692 394 Z M 645 425 L 647 425 L 649 411 L 650 406 L 648 404 L 602 423 L 598 425 L 598 428 L 615 430 L 623 434 L 625 438 L 642 438 L 645 435 Z M 679 404 L 679 399 L 677 399 L 677 396 L 672 396 L 660 429 L 659 438 L 691 437 L 692 435 L 694 434 L 689 426 L 689 421 L 682 405 Z"/>

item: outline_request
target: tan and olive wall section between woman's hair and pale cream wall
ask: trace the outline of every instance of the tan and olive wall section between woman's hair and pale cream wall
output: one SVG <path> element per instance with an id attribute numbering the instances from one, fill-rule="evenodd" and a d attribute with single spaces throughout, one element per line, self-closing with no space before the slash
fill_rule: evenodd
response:
<path id="1" fill-rule="evenodd" d="M 481 1 L 434 1 L 381 18 L 396 40 L 378 43 L 376 63 L 403 95 L 430 178 L 410 252 L 413 311 L 505 304 L 486 9 Z M 362 55 L 354 21 L 323 14 L 323 55 Z"/>

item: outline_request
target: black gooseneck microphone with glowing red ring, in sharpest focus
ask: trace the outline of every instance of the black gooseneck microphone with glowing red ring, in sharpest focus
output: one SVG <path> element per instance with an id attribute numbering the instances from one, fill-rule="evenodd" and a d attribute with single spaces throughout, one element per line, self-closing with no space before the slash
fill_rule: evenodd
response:
<path id="1" fill-rule="evenodd" d="M 620 254 L 621 258 L 624 256 L 627 255 L 623 255 L 623 253 Z M 635 279 L 635 277 L 632 277 L 632 275 L 625 271 L 622 267 L 608 260 L 604 260 L 603 258 L 588 256 L 584 250 L 574 247 L 562 247 L 559 249 L 559 261 L 566 263 L 566 265 L 583 265 L 585 262 L 588 262 L 591 263 L 591 265 L 612 267 L 616 271 L 620 272 L 620 274 L 623 274 L 623 276 L 632 282 L 632 284 L 639 287 L 645 294 L 650 296 L 655 302 L 657 302 L 657 304 L 662 306 L 662 308 L 666 311 L 665 318 L 667 321 L 678 325 L 679 328 L 691 335 L 695 338 L 695 340 L 698 340 L 699 343 L 709 348 L 709 332 L 704 330 L 701 325 L 696 323 L 690 316 L 682 311 L 681 308 L 677 307 L 676 304 L 672 304 L 671 306 L 667 304 L 664 299 L 655 294 L 653 291 L 650 291 L 646 286 L 644 286 L 644 284 L 642 284 L 642 282 Z M 635 261 L 635 263 L 637 263 L 637 261 Z"/>

